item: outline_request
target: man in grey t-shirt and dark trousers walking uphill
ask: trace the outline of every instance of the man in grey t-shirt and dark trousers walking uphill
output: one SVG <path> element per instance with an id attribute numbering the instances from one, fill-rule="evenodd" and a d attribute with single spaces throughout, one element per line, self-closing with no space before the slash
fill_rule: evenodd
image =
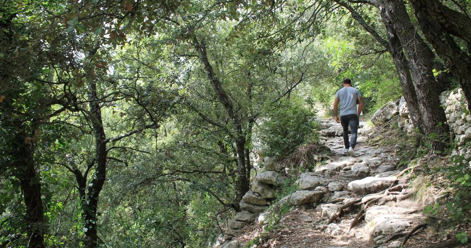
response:
<path id="1" fill-rule="evenodd" d="M 342 89 L 337 91 L 334 100 L 334 113 L 335 121 L 342 124 L 344 128 L 344 143 L 345 149 L 352 157 L 356 157 L 355 145 L 356 137 L 358 135 L 359 116 L 363 110 L 363 98 L 359 90 L 352 87 L 352 80 L 350 78 L 344 78 L 342 81 L 344 86 Z M 338 115 L 340 102 L 340 119 Z M 356 104 L 358 103 L 358 109 Z M 352 137 L 349 142 L 349 125 L 352 130 Z"/>

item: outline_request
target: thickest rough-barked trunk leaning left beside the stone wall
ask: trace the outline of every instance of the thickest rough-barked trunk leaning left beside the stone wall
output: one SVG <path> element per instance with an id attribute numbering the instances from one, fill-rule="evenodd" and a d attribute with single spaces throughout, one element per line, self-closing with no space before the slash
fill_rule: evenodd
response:
<path id="1" fill-rule="evenodd" d="M 435 150 L 443 151 L 448 135 L 445 111 L 440 106 L 438 82 L 433 73 L 434 54 L 415 31 L 404 2 L 401 0 L 378 0 L 385 23 L 390 22 L 409 57 L 409 68 L 415 82 L 415 92 L 425 134 L 437 134 L 431 140 Z M 441 124 L 440 124 L 441 123 Z"/>

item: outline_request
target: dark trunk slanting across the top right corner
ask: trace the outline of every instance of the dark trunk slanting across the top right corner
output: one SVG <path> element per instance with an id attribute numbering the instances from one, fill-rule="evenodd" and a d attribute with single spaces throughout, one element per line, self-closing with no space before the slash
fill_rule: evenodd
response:
<path id="1" fill-rule="evenodd" d="M 462 39 L 470 48 L 471 18 L 438 0 L 411 0 L 411 3 L 423 34 L 460 81 L 471 110 L 471 51 L 463 51 L 452 37 Z"/>

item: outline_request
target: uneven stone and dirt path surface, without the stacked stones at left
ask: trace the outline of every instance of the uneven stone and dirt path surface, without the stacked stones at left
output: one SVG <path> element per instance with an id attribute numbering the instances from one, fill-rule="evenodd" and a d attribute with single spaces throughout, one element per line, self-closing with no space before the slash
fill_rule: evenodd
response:
<path id="1" fill-rule="evenodd" d="M 316 168 L 314 172 L 301 175 L 298 183 L 301 189 L 307 189 L 304 191 L 323 190 L 325 194 L 321 200 L 308 204 L 296 205 L 292 199 L 292 204 L 295 206 L 280 219 L 275 228 L 263 234 L 263 240 L 257 247 L 364 248 L 379 245 L 382 245 L 382 248 L 400 247 L 402 239 L 384 244 L 383 242 L 396 232 L 408 232 L 422 224 L 424 216 L 421 206 L 407 199 L 407 196 L 411 195 L 409 193 L 412 192 L 412 186 L 407 184 L 407 178 L 398 175 L 401 170 L 396 168 L 399 159 L 394 154 L 394 147 L 367 145 L 368 136 L 363 133 L 367 128 L 361 128 L 356 147 L 357 157 L 352 158 L 344 149 L 343 138 L 338 136 L 340 124 L 334 123 L 333 120 L 324 120 L 322 125 L 321 142 L 331 150 L 332 159 Z M 360 124 L 363 125 L 364 123 Z M 319 186 L 302 188 L 303 176 L 304 179 L 311 180 L 306 181 L 307 183 Z M 327 183 L 316 184 L 315 180 L 320 180 L 319 182 L 327 180 Z M 383 181 L 386 183 L 381 183 Z M 400 187 L 397 188 L 397 185 Z M 396 186 L 396 189 L 391 189 L 389 195 L 384 193 L 387 188 L 393 186 Z M 366 208 L 365 215 L 351 230 L 350 226 L 356 214 L 362 206 L 369 203 L 358 203 L 350 211 L 342 212 L 342 215 L 331 224 L 326 223 L 333 215 L 339 213 L 339 208 L 344 204 L 359 199 L 365 202 L 378 195 L 374 193 L 381 193 L 376 197 L 379 198 L 378 201 Z M 294 194 L 291 195 L 292 198 Z M 365 195 L 371 197 L 363 198 Z M 387 200 L 388 197 L 390 200 Z M 260 236 L 264 228 L 266 227 L 257 223 L 255 218 L 255 224 L 247 224 L 238 230 L 240 232 L 232 239 L 232 243 L 226 242 L 222 247 L 247 246 L 247 242 Z M 432 232 L 420 229 L 407 242 L 406 247 L 422 247 L 425 244 L 438 242 L 438 237 Z"/>

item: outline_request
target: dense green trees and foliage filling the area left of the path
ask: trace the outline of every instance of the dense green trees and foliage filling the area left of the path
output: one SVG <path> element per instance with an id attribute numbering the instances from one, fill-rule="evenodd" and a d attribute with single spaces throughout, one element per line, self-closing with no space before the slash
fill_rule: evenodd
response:
<path id="1" fill-rule="evenodd" d="M 400 97 L 388 50 L 338 7 L 3 1 L 1 246 L 210 246 L 251 154 L 315 143 L 342 78 L 365 112 Z M 377 8 L 355 7 L 385 36 Z M 466 159 L 446 175 L 468 188 Z"/>

